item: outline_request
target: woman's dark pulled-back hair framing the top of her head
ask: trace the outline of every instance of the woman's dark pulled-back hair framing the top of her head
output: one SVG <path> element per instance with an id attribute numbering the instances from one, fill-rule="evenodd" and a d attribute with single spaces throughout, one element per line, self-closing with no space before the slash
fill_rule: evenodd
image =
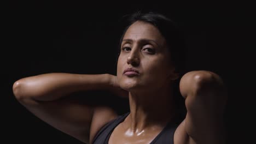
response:
<path id="1" fill-rule="evenodd" d="M 127 29 L 136 21 L 143 21 L 152 24 L 159 29 L 160 33 L 164 36 L 167 47 L 170 50 L 171 61 L 176 68 L 176 72 L 183 75 L 186 71 L 186 61 L 187 61 L 187 46 L 184 39 L 184 34 L 177 24 L 168 19 L 166 16 L 159 13 L 141 13 L 137 11 L 134 14 L 124 16 L 126 18 L 126 28 L 121 35 L 119 40 L 119 53 L 120 46 L 124 38 L 124 34 Z"/>

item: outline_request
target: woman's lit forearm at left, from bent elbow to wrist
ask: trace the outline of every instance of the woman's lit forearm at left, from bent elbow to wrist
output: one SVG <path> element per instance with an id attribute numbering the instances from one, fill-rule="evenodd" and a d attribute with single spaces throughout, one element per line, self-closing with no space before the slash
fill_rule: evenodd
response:
<path id="1" fill-rule="evenodd" d="M 13 92 L 19 100 L 32 98 L 39 101 L 52 101 L 72 92 L 107 89 L 107 82 L 107 74 L 51 73 L 20 79 L 14 83 Z"/>

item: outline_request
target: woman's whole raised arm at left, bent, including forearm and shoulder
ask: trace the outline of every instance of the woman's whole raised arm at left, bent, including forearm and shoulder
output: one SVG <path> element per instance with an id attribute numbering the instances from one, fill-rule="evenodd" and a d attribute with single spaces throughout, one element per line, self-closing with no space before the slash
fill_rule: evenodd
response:
<path id="1" fill-rule="evenodd" d="M 109 74 L 42 74 L 16 81 L 13 92 L 16 99 L 34 115 L 56 129 L 89 143 L 102 125 L 117 114 L 108 107 L 82 104 L 72 99 L 70 94 L 96 89 L 111 90 L 113 78 Z"/>

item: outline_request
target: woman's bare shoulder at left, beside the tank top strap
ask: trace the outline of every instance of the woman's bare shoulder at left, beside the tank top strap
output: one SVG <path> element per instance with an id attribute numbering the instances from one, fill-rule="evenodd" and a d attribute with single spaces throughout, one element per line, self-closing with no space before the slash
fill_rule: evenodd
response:
<path id="1" fill-rule="evenodd" d="M 107 106 L 98 106 L 94 109 L 94 115 L 91 119 L 91 128 L 90 128 L 90 143 L 94 140 L 96 134 L 100 129 L 107 124 L 108 122 L 112 121 L 113 119 L 117 118 L 118 114 L 113 109 Z"/>

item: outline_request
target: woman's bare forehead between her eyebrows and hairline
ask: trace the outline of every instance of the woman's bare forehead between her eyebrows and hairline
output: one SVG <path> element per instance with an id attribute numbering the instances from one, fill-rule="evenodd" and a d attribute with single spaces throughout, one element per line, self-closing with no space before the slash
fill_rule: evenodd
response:
<path id="1" fill-rule="evenodd" d="M 158 28 L 150 23 L 136 21 L 125 32 L 123 39 L 132 39 L 134 41 L 139 39 L 152 39 L 159 44 L 164 44 L 165 39 L 162 37 Z"/>

